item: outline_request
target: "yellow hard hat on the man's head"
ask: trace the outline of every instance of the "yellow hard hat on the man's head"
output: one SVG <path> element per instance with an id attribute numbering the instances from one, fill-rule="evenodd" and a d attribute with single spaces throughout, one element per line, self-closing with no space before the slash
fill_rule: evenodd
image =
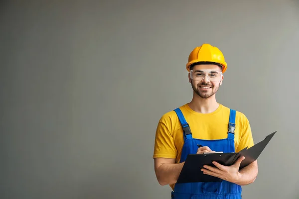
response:
<path id="1" fill-rule="evenodd" d="M 189 55 L 186 69 L 190 72 L 190 65 L 199 62 L 199 64 L 217 64 L 222 67 L 222 73 L 227 69 L 227 64 L 223 53 L 215 46 L 202 44 L 192 50 Z"/>

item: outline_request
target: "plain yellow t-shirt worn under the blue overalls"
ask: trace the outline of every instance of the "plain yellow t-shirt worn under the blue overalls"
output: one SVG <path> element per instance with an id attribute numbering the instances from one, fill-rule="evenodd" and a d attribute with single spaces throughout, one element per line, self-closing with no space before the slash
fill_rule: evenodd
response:
<path id="1" fill-rule="evenodd" d="M 189 124 L 192 137 L 196 139 L 224 139 L 228 134 L 230 109 L 222 104 L 211 113 L 199 113 L 192 110 L 188 103 L 180 107 Z M 251 128 L 247 117 L 236 111 L 235 149 L 241 151 L 254 145 Z M 179 163 L 184 144 L 182 126 L 172 110 L 160 118 L 155 134 L 153 158 L 173 158 Z M 213 150 L 213 149 L 211 149 Z M 173 189 L 174 185 L 170 185 Z"/>

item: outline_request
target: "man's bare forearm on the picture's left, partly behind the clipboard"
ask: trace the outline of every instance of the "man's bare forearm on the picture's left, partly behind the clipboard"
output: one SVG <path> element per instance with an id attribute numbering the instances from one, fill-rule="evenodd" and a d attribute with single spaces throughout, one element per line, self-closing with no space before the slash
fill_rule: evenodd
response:
<path id="1" fill-rule="evenodd" d="M 178 176 L 183 168 L 184 162 L 175 163 L 164 163 L 159 165 L 156 169 L 156 177 L 160 185 L 171 185 L 175 184 Z"/>

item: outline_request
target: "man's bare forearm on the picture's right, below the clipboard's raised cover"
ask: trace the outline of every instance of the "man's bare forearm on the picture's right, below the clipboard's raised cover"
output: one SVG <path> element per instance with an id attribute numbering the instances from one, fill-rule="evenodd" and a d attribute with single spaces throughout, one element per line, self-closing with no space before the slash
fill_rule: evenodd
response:
<path id="1" fill-rule="evenodd" d="M 253 183 L 258 175 L 258 164 L 257 161 L 244 167 L 240 170 L 240 178 L 236 182 L 237 185 L 245 186 Z"/>

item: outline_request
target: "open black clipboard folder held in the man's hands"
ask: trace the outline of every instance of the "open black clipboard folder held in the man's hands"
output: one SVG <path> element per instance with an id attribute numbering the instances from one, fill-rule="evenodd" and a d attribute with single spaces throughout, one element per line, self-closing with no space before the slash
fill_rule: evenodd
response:
<path id="1" fill-rule="evenodd" d="M 277 131 L 269 134 L 263 141 L 250 148 L 246 147 L 238 153 L 189 154 L 185 160 L 184 166 L 180 172 L 176 184 L 221 182 L 222 179 L 220 178 L 203 174 L 203 172 L 200 170 L 203 168 L 203 165 L 215 167 L 212 162 L 216 161 L 222 165 L 230 166 L 233 165 L 239 157 L 244 156 L 245 159 L 240 164 L 240 169 L 242 169 L 258 159 L 276 132 Z"/>

